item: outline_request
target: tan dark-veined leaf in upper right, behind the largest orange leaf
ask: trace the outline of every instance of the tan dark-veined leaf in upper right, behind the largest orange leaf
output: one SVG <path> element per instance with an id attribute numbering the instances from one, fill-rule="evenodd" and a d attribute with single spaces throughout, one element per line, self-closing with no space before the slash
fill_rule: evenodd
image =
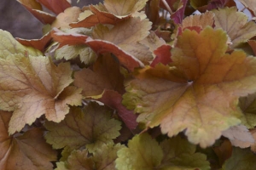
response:
<path id="1" fill-rule="evenodd" d="M 215 27 L 227 31 L 232 42 L 232 48 L 236 48 L 242 42 L 247 42 L 247 40 L 256 36 L 255 22 L 248 22 L 247 15 L 237 12 L 236 8 L 218 8 L 212 10 L 212 12 L 215 14 Z"/>

